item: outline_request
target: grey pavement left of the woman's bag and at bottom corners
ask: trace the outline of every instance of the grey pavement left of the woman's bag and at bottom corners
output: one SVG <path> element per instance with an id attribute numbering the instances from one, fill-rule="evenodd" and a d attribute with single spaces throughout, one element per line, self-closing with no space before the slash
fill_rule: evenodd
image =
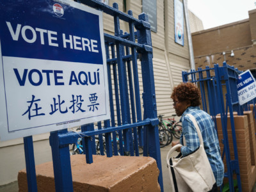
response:
<path id="1" fill-rule="evenodd" d="M 164 191 L 170 191 L 171 189 L 169 171 L 166 166 L 166 156 L 170 148 L 171 148 L 171 145 L 161 148 L 161 162 L 162 162 Z M 19 191 L 17 181 L 12 182 L 10 184 L 6 184 L 4 186 L 0 186 L 0 192 L 17 192 L 17 191 Z M 244 191 L 244 192 L 248 192 L 248 191 Z M 252 192 L 256 192 L 256 183 L 254 185 L 254 188 L 252 189 Z"/>

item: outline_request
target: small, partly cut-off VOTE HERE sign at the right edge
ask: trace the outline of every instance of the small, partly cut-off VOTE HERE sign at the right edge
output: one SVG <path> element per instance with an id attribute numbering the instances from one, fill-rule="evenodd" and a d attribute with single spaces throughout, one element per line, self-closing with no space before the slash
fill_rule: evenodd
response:
<path id="1" fill-rule="evenodd" d="M 237 93 L 240 105 L 256 97 L 256 82 L 250 70 L 246 70 L 238 76 Z"/>

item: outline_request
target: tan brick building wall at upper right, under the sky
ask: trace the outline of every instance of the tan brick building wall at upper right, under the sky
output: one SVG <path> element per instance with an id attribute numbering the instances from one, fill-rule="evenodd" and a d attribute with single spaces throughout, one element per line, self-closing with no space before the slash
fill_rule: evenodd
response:
<path id="1" fill-rule="evenodd" d="M 222 66 L 224 60 L 238 70 L 256 68 L 256 10 L 249 19 L 192 34 L 195 67 Z M 235 56 L 231 57 L 231 51 Z M 226 52 L 225 59 L 223 52 Z"/>

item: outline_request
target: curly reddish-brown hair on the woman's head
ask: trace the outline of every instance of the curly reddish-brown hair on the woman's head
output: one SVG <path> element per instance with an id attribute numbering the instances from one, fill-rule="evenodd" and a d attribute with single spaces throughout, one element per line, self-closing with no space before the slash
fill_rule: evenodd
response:
<path id="1" fill-rule="evenodd" d="M 190 100 L 193 107 L 200 106 L 200 92 L 194 83 L 180 83 L 173 88 L 172 99 L 174 95 L 179 101 Z"/>

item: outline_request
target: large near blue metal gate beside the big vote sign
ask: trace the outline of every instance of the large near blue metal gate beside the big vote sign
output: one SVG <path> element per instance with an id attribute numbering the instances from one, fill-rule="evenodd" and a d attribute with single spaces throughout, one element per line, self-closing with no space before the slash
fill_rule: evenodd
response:
<path id="1" fill-rule="evenodd" d="M 79 3 L 113 16 L 115 36 L 104 34 L 108 65 L 109 102 L 111 119 L 95 124 L 81 125 L 81 132 L 66 130 L 51 132 L 50 145 L 54 166 L 56 191 L 72 191 L 72 174 L 69 145 L 83 137 L 86 163 L 93 163 L 96 154 L 95 135 L 99 135 L 100 154 L 104 154 L 102 134 L 106 140 L 106 155 L 124 155 L 129 151 L 131 156 L 139 156 L 138 146 L 143 146 L 143 156 L 154 157 L 159 168 L 159 184 L 163 191 L 161 154 L 158 136 L 158 118 L 152 63 L 152 43 L 150 24 L 144 13 L 138 19 L 97 0 L 83 0 Z M 120 29 L 120 20 L 129 24 L 129 33 Z M 138 60 L 141 63 L 143 93 L 140 94 Z M 115 94 L 114 94 L 115 93 Z M 115 98 L 113 98 L 115 95 Z M 141 95 L 143 99 L 143 117 L 141 112 Z M 115 106 L 115 109 L 114 109 Z M 115 119 L 116 117 L 116 119 Z M 118 138 L 118 142 L 116 141 Z M 122 144 L 124 143 L 124 145 Z M 112 145 L 113 144 L 113 145 Z M 37 191 L 35 159 L 33 155 L 32 136 L 24 138 L 26 168 L 29 191 Z"/>

